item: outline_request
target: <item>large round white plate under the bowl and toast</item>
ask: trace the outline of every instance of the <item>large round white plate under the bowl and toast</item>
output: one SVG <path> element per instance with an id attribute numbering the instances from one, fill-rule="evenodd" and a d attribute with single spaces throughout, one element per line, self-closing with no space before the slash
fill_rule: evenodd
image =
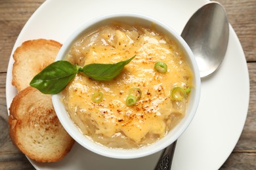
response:
<path id="1" fill-rule="evenodd" d="M 77 27 L 102 14 L 139 12 L 152 16 L 181 33 L 184 25 L 206 0 L 48 0 L 22 29 L 12 53 L 30 39 L 64 42 Z M 11 85 L 12 56 L 7 71 L 9 108 L 16 95 Z M 232 152 L 244 127 L 249 105 L 249 75 L 241 44 L 230 26 L 230 39 L 221 68 L 202 81 L 202 94 L 194 120 L 179 138 L 173 169 L 219 169 Z M 37 163 L 36 169 L 154 169 L 160 152 L 134 160 L 98 156 L 75 144 L 62 161 Z"/>

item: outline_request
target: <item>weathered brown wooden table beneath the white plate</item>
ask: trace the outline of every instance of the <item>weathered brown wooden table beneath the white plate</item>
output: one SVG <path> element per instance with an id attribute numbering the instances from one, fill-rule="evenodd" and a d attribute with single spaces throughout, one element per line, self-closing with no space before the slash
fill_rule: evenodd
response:
<path id="1" fill-rule="evenodd" d="M 12 46 L 22 27 L 44 0 L 0 0 L 0 169 L 34 169 L 11 142 L 5 80 Z M 242 135 L 221 169 L 256 169 L 256 1 L 217 0 L 244 49 L 250 78 L 250 102 Z"/>

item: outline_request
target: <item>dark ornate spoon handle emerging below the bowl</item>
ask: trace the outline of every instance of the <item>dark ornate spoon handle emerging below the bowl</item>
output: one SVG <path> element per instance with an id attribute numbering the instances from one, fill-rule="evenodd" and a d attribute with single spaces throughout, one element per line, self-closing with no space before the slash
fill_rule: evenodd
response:
<path id="1" fill-rule="evenodd" d="M 160 159 L 158 160 L 158 163 L 156 164 L 156 167 L 154 170 L 168 170 L 171 169 L 171 163 L 173 161 L 173 154 L 175 152 L 175 146 L 177 141 L 170 144 L 163 150 L 163 153 L 160 156 Z"/>

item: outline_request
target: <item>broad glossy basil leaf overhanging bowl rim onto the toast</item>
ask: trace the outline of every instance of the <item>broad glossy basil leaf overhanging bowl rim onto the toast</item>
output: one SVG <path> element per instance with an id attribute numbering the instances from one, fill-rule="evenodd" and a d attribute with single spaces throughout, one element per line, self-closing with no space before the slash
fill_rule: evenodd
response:
<path id="1" fill-rule="evenodd" d="M 78 71 L 81 71 L 81 67 L 68 61 L 55 61 L 35 75 L 30 86 L 45 94 L 56 94 L 66 87 Z"/>

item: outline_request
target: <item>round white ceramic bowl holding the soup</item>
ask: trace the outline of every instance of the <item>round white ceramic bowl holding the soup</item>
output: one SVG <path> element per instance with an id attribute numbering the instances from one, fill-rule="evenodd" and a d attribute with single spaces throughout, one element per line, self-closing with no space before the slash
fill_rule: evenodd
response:
<path id="1" fill-rule="evenodd" d="M 169 131 L 167 135 L 162 137 L 160 140 L 156 141 L 149 146 L 144 146 L 142 148 L 135 149 L 118 149 L 118 148 L 108 148 L 106 146 L 102 146 L 97 144 L 90 139 L 88 139 L 85 135 L 81 133 L 81 131 L 75 126 L 74 122 L 68 116 L 68 112 L 66 111 L 63 103 L 60 101 L 60 94 L 53 95 L 53 105 L 56 110 L 56 114 L 66 131 L 77 141 L 77 143 L 81 144 L 81 146 L 95 152 L 96 154 L 100 154 L 102 156 L 107 156 L 110 158 L 121 158 L 121 159 L 129 159 L 129 158 L 140 158 L 142 156 L 148 156 L 150 154 L 154 154 L 163 148 L 167 147 L 169 144 L 173 143 L 178 139 L 179 136 L 185 131 L 185 129 L 189 126 L 194 114 L 196 113 L 196 109 L 198 107 L 198 103 L 200 100 L 200 73 L 198 71 L 198 67 L 196 64 L 196 60 L 193 56 L 192 51 L 188 47 L 188 44 L 182 39 L 180 35 L 178 35 L 173 29 L 163 24 L 162 22 L 150 18 L 148 16 L 144 16 L 142 14 L 134 14 L 134 13 L 116 13 L 116 14 L 108 14 L 106 16 L 102 16 L 100 18 L 96 18 L 91 22 L 85 23 L 82 27 L 77 29 L 69 39 L 64 42 L 56 60 L 64 59 L 64 56 L 68 53 L 70 46 L 72 43 L 81 35 L 84 35 L 87 32 L 92 31 L 96 27 L 100 27 L 102 25 L 110 24 L 112 22 L 125 22 L 127 24 L 140 24 L 152 27 L 154 25 L 154 29 L 164 33 L 169 36 L 171 39 L 175 40 L 177 44 L 184 51 L 185 56 L 187 57 L 187 61 L 192 69 L 194 74 L 194 90 L 192 90 L 190 94 L 190 100 L 188 103 L 188 108 L 186 111 L 186 115 L 182 118 L 181 122 Z M 189 141 L 188 141 L 189 142 Z"/>

